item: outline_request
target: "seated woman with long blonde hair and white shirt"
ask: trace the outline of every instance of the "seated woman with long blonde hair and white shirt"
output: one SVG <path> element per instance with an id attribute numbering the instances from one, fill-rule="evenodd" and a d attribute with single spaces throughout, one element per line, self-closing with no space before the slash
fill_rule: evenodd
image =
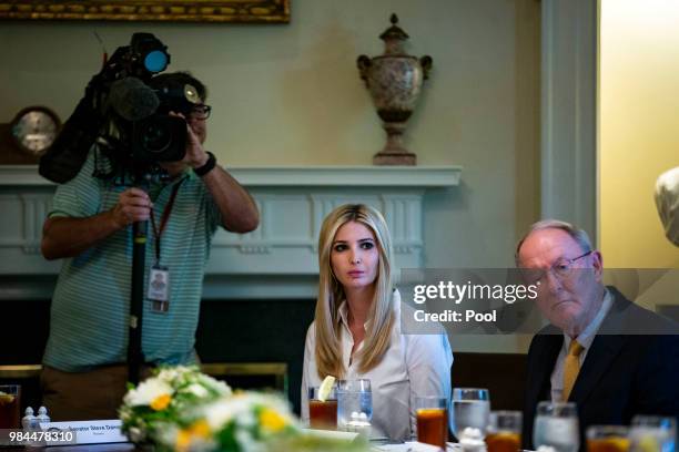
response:
<path id="1" fill-rule="evenodd" d="M 416 434 L 417 396 L 449 400 L 453 353 L 445 335 L 404 335 L 392 286 L 392 239 L 379 212 L 343 205 L 323 222 L 315 320 L 306 333 L 302 418 L 307 388 L 326 376 L 371 380 L 373 431 L 392 440 Z M 375 434 L 374 434 L 375 435 Z"/>

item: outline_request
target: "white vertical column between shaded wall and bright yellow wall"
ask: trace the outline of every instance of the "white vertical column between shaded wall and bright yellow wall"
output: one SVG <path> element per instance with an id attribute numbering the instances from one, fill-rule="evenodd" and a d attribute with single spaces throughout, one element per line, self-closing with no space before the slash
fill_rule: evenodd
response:
<path id="1" fill-rule="evenodd" d="M 597 0 L 543 0 L 541 217 L 597 236 Z"/>

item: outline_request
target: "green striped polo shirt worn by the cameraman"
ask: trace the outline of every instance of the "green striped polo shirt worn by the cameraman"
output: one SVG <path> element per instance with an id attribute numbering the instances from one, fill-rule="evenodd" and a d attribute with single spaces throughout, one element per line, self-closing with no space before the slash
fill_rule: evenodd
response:
<path id="1" fill-rule="evenodd" d="M 94 154 L 78 176 L 60 185 L 50 217 L 89 217 L 111 209 L 128 186 L 93 177 Z M 102 156 L 98 155 L 101 165 Z M 146 362 L 191 363 L 203 275 L 221 216 L 193 171 L 170 183 L 152 183 L 156 225 L 173 186 L 181 181 L 161 236 L 161 261 L 170 271 L 170 308 L 158 314 L 145 298 L 149 269 L 155 264 L 155 237 L 149 222 L 145 249 L 142 348 Z M 65 258 L 52 298 L 50 337 L 43 363 L 62 371 L 87 371 L 126 360 L 132 277 L 132 226 L 75 257 Z"/>

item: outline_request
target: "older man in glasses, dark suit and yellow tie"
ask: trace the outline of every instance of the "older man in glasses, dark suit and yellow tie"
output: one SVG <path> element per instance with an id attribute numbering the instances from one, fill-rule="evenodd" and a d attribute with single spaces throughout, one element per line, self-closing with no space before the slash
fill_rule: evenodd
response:
<path id="1" fill-rule="evenodd" d="M 526 448 L 533 449 L 541 400 L 575 402 L 580 432 L 629 424 L 635 414 L 679 415 L 679 326 L 604 286 L 602 257 L 587 233 L 558 220 L 536 223 L 516 259 L 538 285 L 537 307 L 551 323 L 528 351 Z"/>

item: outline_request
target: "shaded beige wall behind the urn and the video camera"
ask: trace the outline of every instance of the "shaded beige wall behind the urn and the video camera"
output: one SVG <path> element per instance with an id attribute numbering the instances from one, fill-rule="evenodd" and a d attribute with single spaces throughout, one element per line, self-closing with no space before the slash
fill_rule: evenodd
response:
<path id="1" fill-rule="evenodd" d="M 535 0 L 293 0 L 282 25 L 1 22 L 0 122 L 29 104 L 65 119 L 101 50 L 162 39 L 172 70 L 211 88 L 207 147 L 226 165 L 365 165 L 384 132 L 358 78 L 392 12 L 434 72 L 406 143 L 419 164 L 463 165 L 425 204 L 427 267 L 500 267 L 539 209 L 539 10 Z M 460 338 L 456 350 L 525 349 Z"/>

